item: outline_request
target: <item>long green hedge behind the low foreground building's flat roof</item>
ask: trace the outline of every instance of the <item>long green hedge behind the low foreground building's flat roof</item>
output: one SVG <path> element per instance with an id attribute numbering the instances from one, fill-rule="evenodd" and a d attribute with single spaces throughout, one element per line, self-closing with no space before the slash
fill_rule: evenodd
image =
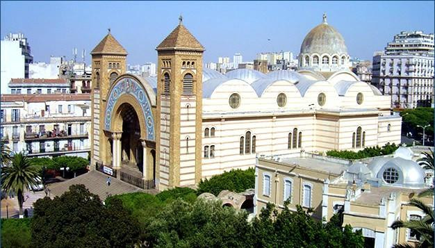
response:
<path id="1" fill-rule="evenodd" d="M 397 150 L 397 148 L 399 147 L 393 143 L 393 144 L 386 144 L 382 148 L 380 148 L 379 146 L 366 147 L 358 152 L 347 151 L 347 150 L 345 151 L 331 150 L 331 151 L 327 151 L 327 156 L 344 158 L 349 160 L 356 160 L 361 158 L 370 158 L 375 156 L 384 156 L 388 154 L 393 154 L 393 152 Z"/>

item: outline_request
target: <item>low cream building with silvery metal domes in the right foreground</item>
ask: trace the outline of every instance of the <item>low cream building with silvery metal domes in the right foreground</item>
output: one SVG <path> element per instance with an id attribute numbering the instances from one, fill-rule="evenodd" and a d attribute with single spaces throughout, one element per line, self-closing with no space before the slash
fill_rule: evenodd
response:
<path id="1" fill-rule="evenodd" d="M 313 210 L 312 217 L 329 220 L 343 211 L 343 226 L 362 230 L 367 247 L 389 248 L 407 243 L 414 247 L 418 235 L 409 229 L 392 229 L 395 220 L 425 217 L 410 206 L 409 199 L 432 186 L 432 172 L 415 162 L 419 154 L 400 147 L 393 156 L 360 161 L 331 158 L 318 154 L 279 156 L 259 155 L 256 160 L 254 211 L 258 215 L 266 204 L 279 210 L 288 202 Z M 433 204 L 433 197 L 420 198 Z"/>

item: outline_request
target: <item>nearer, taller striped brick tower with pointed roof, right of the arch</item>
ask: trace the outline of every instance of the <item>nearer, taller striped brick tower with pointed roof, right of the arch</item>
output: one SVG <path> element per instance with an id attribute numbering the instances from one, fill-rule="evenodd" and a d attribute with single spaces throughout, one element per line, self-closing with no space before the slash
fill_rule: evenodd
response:
<path id="1" fill-rule="evenodd" d="M 179 25 L 156 50 L 159 190 L 195 185 L 201 180 L 202 56 L 205 49 L 180 17 Z"/>

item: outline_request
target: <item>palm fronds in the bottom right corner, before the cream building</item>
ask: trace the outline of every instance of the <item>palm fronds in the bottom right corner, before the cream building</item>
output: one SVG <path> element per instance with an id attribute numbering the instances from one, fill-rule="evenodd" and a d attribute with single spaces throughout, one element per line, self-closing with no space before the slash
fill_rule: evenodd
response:
<path id="1" fill-rule="evenodd" d="M 398 228 L 407 228 L 411 229 L 414 233 L 417 234 L 417 237 L 420 238 L 420 243 L 417 247 L 434 247 L 434 212 L 430 206 L 427 206 L 425 203 L 418 199 L 411 199 L 409 201 L 409 205 L 420 208 L 423 213 L 425 213 L 425 217 L 421 220 L 396 220 L 391 224 L 392 229 Z M 406 244 L 398 244 L 394 246 L 395 248 L 404 248 L 410 247 Z"/>

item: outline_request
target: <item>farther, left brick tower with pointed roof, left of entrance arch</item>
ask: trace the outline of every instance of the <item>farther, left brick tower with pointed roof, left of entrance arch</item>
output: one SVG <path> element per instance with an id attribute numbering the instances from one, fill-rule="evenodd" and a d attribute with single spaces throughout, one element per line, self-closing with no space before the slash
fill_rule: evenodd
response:
<path id="1" fill-rule="evenodd" d="M 91 97 L 91 164 L 95 165 L 95 160 L 108 160 L 110 147 L 103 142 L 101 123 L 104 122 L 104 109 L 108 99 L 108 91 L 111 83 L 126 72 L 127 51 L 120 42 L 113 37 L 108 29 L 108 34 L 90 52 L 92 56 L 92 97 Z M 92 167 L 92 166 L 91 166 Z"/>

